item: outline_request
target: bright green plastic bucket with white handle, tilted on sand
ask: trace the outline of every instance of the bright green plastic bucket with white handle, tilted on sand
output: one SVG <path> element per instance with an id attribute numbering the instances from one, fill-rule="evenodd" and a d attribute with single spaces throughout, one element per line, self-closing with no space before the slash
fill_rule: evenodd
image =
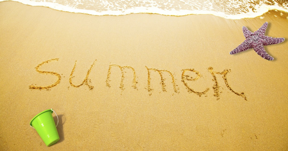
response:
<path id="1" fill-rule="evenodd" d="M 37 114 L 31 121 L 30 126 L 34 128 L 41 139 L 44 141 L 46 146 L 51 146 L 57 141 L 59 141 L 58 131 L 56 129 L 55 122 L 52 116 L 53 109 L 45 110 Z M 55 111 L 54 111 L 55 113 Z M 56 113 L 55 113 L 56 114 Z M 57 114 L 56 114 L 57 116 Z M 58 116 L 57 116 L 58 119 Z"/>

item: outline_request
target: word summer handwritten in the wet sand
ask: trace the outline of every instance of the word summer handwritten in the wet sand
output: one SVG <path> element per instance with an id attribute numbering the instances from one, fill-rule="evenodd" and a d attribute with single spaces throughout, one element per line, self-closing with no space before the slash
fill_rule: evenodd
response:
<path id="1" fill-rule="evenodd" d="M 42 63 L 40 63 L 38 66 L 35 67 L 36 71 L 39 72 L 39 73 L 52 74 L 52 75 L 55 75 L 56 77 L 58 77 L 58 80 L 57 80 L 55 83 L 53 83 L 53 84 L 51 84 L 51 85 L 48 85 L 48 86 L 29 85 L 29 88 L 30 88 L 30 89 L 42 90 L 42 89 L 50 89 L 50 88 L 55 87 L 56 85 L 58 85 L 58 84 L 60 83 L 60 80 L 61 80 L 60 74 L 58 74 L 58 73 L 56 73 L 56 72 L 52 72 L 52 71 L 41 71 L 41 70 L 39 70 L 40 66 L 42 66 L 43 64 L 47 64 L 47 63 L 49 63 L 49 62 L 51 62 L 51 61 L 58 61 L 58 60 L 59 60 L 59 58 L 50 59 L 50 60 L 47 60 L 47 61 L 43 61 Z M 70 85 L 73 86 L 73 87 L 80 87 L 81 85 L 87 85 L 90 90 L 93 89 L 94 86 L 89 85 L 89 83 L 88 83 L 88 77 L 89 77 L 89 74 L 90 74 L 90 72 L 91 72 L 94 64 L 96 63 L 96 60 L 92 63 L 92 65 L 91 65 L 90 68 L 88 69 L 88 72 L 87 72 L 87 74 L 86 74 L 85 79 L 84 79 L 84 80 L 82 81 L 82 83 L 79 84 L 79 85 L 74 85 L 74 84 L 72 83 L 72 78 L 73 78 L 73 73 L 74 73 L 75 68 L 76 68 L 76 63 L 77 63 L 77 61 L 75 61 L 74 67 L 73 67 L 73 69 L 72 69 L 72 71 L 71 71 L 71 74 L 70 74 L 70 77 L 69 77 Z M 124 90 L 124 84 L 123 84 L 123 81 L 124 81 L 124 69 L 126 69 L 126 68 L 132 70 L 132 72 L 133 72 L 132 87 L 137 88 L 137 83 L 138 83 L 138 82 L 137 82 L 137 80 L 136 80 L 136 72 L 135 72 L 134 68 L 132 68 L 131 66 L 119 66 L 119 65 L 117 65 L 117 64 L 111 64 L 111 65 L 109 65 L 108 73 L 107 73 L 107 79 L 106 79 L 106 85 L 107 85 L 108 87 L 110 87 L 109 81 L 111 81 L 111 80 L 110 80 L 110 74 L 111 74 L 111 68 L 112 68 L 112 67 L 118 67 L 118 68 L 120 68 L 120 70 L 121 70 L 122 77 L 121 77 L 121 82 L 120 82 L 120 89 Z M 150 86 L 150 81 L 151 81 L 150 72 L 151 72 L 151 71 L 155 71 L 155 72 L 158 72 L 158 73 L 159 73 L 160 78 L 161 78 L 160 84 L 162 85 L 162 91 L 166 91 L 166 88 L 165 88 L 166 85 L 165 85 L 165 83 L 164 83 L 165 78 L 164 78 L 163 75 L 162 75 L 164 72 L 166 72 L 166 73 L 168 73 L 168 74 L 170 75 L 170 77 L 172 78 L 172 84 L 173 84 L 173 89 L 174 89 L 174 91 L 175 91 L 175 92 L 178 92 L 179 88 L 176 87 L 177 85 L 176 85 L 176 83 L 175 83 L 175 78 L 174 78 L 173 74 L 172 74 L 170 71 L 168 71 L 168 70 L 159 70 L 159 69 L 156 69 L 156 68 L 148 68 L 147 66 L 145 66 L 145 68 L 147 69 L 147 74 L 148 74 L 148 80 L 147 80 L 147 81 L 148 81 L 148 82 L 147 82 L 147 90 L 148 90 L 148 92 L 150 92 L 151 90 L 153 90 L 153 89 L 151 89 L 151 86 Z M 214 85 L 213 85 L 214 96 L 217 97 L 217 100 L 219 99 L 219 87 L 220 87 L 220 86 L 219 86 L 219 84 L 218 84 L 218 81 L 217 81 L 217 79 L 216 79 L 215 74 L 221 74 L 221 75 L 223 75 L 223 80 L 224 80 L 226 86 L 228 87 L 228 89 L 229 89 L 231 92 L 233 92 L 234 94 L 236 94 L 236 95 L 238 95 L 238 96 L 241 96 L 241 97 L 243 97 L 245 100 L 247 100 L 247 98 L 246 98 L 246 96 L 244 95 L 243 92 L 241 92 L 241 93 L 235 92 L 234 90 L 232 90 L 232 88 L 231 88 L 230 85 L 228 84 L 226 75 L 227 75 L 227 73 L 228 73 L 230 70 L 223 70 L 222 72 L 216 72 L 216 71 L 213 70 L 212 67 L 209 67 L 209 68 L 208 68 L 208 71 L 211 73 L 211 75 L 212 75 L 212 77 L 213 77 L 212 81 L 214 81 Z M 197 74 L 197 77 L 193 79 L 192 77 L 189 77 L 188 75 L 185 75 L 185 72 L 194 72 L 195 74 Z M 188 84 L 187 84 L 187 82 L 186 82 L 186 81 L 196 81 L 196 80 L 199 79 L 200 77 L 201 77 L 201 74 L 200 74 L 198 71 L 194 70 L 194 69 L 183 69 L 183 70 L 182 70 L 182 75 L 181 75 L 181 81 L 182 81 L 183 84 L 185 85 L 185 87 L 186 87 L 186 89 L 188 90 L 188 92 L 195 93 L 195 94 L 197 94 L 198 96 L 201 96 L 201 95 L 205 94 L 206 92 L 208 92 L 209 88 L 206 88 L 203 92 L 197 92 L 197 91 L 193 90 L 191 87 L 189 87 Z"/>

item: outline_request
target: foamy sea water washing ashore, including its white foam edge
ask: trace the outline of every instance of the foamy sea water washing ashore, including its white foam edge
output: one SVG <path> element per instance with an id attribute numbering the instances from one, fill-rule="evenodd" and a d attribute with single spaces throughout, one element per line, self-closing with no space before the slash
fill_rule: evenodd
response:
<path id="1" fill-rule="evenodd" d="M 7 0 L 0 0 L 7 1 Z M 10 0 L 9 0 L 10 1 Z M 288 12 L 288 0 L 12 0 L 66 12 L 91 15 L 153 13 L 171 16 L 212 14 L 228 19 L 254 18 L 279 10 Z"/>

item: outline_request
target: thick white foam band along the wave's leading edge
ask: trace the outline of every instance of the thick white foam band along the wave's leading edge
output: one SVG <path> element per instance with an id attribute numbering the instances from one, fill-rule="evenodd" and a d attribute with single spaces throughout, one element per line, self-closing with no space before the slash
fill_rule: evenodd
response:
<path id="1" fill-rule="evenodd" d="M 2 1 L 12 1 L 12 0 L 0 0 Z M 111 11 L 103 11 L 103 12 L 97 12 L 95 10 L 84 10 L 84 9 L 77 9 L 77 8 L 71 8 L 69 6 L 61 5 L 58 3 L 51 3 L 51 2 L 35 2 L 35 1 L 29 1 L 29 0 L 13 0 L 25 5 L 31 5 L 31 6 L 44 6 L 48 8 L 52 8 L 54 10 L 60 10 L 64 12 L 73 12 L 73 13 L 82 13 L 82 14 L 90 14 L 90 15 L 96 15 L 96 16 L 103 16 L 103 15 L 113 15 L 113 16 L 119 16 L 119 15 L 127 15 L 127 14 L 138 14 L 138 13 L 149 13 L 149 14 L 161 14 L 161 15 L 167 15 L 167 16 L 185 16 L 185 15 L 191 15 L 191 14 L 211 14 L 214 16 L 219 16 L 226 19 L 242 19 L 242 18 L 255 18 L 257 16 L 261 16 L 262 14 L 268 12 L 269 10 L 280 10 L 283 12 L 288 13 L 288 7 L 287 10 L 275 6 L 275 5 L 266 5 L 262 4 L 260 8 L 257 8 L 257 12 L 247 12 L 242 14 L 225 14 L 224 12 L 215 12 L 215 11 L 207 11 L 207 10 L 162 10 L 157 7 L 135 7 L 130 8 L 125 11 L 120 10 L 111 10 Z"/>

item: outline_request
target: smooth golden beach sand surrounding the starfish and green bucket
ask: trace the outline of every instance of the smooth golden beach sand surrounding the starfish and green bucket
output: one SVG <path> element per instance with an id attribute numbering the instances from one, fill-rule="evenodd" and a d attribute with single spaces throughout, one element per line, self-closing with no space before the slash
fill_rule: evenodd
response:
<path id="1" fill-rule="evenodd" d="M 93 16 L 1 2 L 0 150 L 287 150 L 288 14 L 280 13 Z M 273 61 L 253 49 L 229 54 L 245 40 L 242 26 L 254 32 L 266 21 L 266 36 L 286 38 L 265 46 Z M 119 66 L 130 66 L 123 77 Z M 209 67 L 228 70 L 247 100 L 221 74 L 214 90 Z M 186 86 L 209 90 L 189 93 L 184 69 Z M 50 108 L 60 141 L 47 147 L 29 123 Z"/>

